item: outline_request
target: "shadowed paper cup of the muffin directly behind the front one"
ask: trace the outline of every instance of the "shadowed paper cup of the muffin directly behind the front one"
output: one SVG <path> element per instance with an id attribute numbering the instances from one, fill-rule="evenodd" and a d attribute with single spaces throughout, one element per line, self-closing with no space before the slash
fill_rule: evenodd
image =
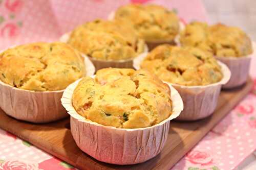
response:
<path id="1" fill-rule="evenodd" d="M 60 42 L 67 43 L 70 37 L 70 33 L 66 33 L 62 35 L 59 39 Z M 148 52 L 148 47 L 145 44 L 144 52 L 140 55 L 146 54 Z M 84 54 L 85 55 L 85 54 Z M 95 66 L 95 70 L 98 71 L 102 68 L 133 68 L 133 58 L 132 59 L 124 59 L 124 60 L 100 60 L 92 57 L 88 57 Z"/>

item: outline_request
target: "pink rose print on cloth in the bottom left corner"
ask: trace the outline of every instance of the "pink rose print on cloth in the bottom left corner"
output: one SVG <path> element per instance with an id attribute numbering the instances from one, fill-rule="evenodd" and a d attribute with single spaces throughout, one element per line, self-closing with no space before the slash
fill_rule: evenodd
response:
<path id="1" fill-rule="evenodd" d="M 39 170 L 38 164 L 21 160 L 7 160 L 0 164 L 0 170 Z"/>

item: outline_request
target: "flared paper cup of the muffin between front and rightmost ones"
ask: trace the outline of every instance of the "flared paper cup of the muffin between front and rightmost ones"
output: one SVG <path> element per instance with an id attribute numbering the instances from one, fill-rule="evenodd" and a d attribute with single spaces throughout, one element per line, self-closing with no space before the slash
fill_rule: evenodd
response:
<path id="1" fill-rule="evenodd" d="M 146 55 L 135 59 L 135 69 L 140 69 L 140 63 L 145 57 Z M 218 61 L 218 64 L 221 66 L 223 73 L 220 82 L 205 86 L 182 86 L 166 82 L 178 90 L 184 103 L 184 110 L 176 118 L 177 120 L 198 120 L 211 115 L 215 111 L 221 87 L 228 82 L 231 75 L 225 64 L 220 61 Z"/>

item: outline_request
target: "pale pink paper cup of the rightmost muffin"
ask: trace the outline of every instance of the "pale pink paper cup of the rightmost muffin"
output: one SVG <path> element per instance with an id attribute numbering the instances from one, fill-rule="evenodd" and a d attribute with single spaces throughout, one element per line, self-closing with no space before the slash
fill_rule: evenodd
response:
<path id="1" fill-rule="evenodd" d="M 243 85 L 249 75 L 251 55 L 245 57 L 217 57 L 216 59 L 225 63 L 231 71 L 230 80 L 223 85 L 224 89 L 231 89 Z"/>

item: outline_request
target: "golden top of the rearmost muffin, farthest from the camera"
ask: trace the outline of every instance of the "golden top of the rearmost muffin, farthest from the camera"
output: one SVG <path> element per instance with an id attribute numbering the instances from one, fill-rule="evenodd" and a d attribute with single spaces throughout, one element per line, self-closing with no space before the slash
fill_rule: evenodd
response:
<path id="1" fill-rule="evenodd" d="M 173 41 L 179 33 L 179 18 L 159 5 L 129 4 L 115 12 L 115 19 L 124 19 L 146 42 Z"/>

